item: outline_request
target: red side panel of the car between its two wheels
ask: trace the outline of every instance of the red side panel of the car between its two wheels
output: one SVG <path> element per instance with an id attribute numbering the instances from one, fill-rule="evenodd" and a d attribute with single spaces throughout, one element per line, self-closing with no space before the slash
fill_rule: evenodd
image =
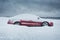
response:
<path id="1" fill-rule="evenodd" d="M 25 26 L 42 26 L 42 22 L 21 20 L 20 21 L 20 25 L 25 25 Z"/>

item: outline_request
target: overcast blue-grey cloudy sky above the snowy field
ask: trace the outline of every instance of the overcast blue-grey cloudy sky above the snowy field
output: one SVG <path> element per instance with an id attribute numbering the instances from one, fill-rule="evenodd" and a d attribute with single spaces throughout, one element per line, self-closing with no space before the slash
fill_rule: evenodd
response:
<path id="1" fill-rule="evenodd" d="M 60 17 L 60 0 L 0 0 L 0 16 L 24 13 Z"/>

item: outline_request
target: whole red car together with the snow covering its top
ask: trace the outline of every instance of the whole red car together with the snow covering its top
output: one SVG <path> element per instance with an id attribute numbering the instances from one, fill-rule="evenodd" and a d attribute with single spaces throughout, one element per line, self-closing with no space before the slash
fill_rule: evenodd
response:
<path id="1" fill-rule="evenodd" d="M 53 26 L 53 22 L 48 19 L 42 19 L 32 14 L 21 14 L 8 20 L 8 24 L 17 24 L 22 26 Z"/>

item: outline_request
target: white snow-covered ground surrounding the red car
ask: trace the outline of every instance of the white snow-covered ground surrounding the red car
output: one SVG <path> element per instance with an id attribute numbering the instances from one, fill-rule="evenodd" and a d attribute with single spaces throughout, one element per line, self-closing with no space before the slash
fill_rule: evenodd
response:
<path id="1" fill-rule="evenodd" d="M 53 27 L 11 25 L 8 20 L 0 17 L 0 40 L 60 40 L 60 20 L 52 19 Z"/>

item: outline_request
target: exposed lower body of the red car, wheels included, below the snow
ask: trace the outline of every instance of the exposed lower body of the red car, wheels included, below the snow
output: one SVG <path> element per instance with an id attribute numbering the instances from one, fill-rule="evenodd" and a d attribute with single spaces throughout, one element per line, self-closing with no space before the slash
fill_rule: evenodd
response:
<path id="1" fill-rule="evenodd" d="M 8 24 L 18 24 L 18 25 L 23 25 L 23 26 L 53 26 L 53 22 L 37 22 L 37 21 L 31 21 L 31 20 L 20 20 L 20 21 L 15 21 L 13 22 L 12 20 L 8 21 Z"/>

